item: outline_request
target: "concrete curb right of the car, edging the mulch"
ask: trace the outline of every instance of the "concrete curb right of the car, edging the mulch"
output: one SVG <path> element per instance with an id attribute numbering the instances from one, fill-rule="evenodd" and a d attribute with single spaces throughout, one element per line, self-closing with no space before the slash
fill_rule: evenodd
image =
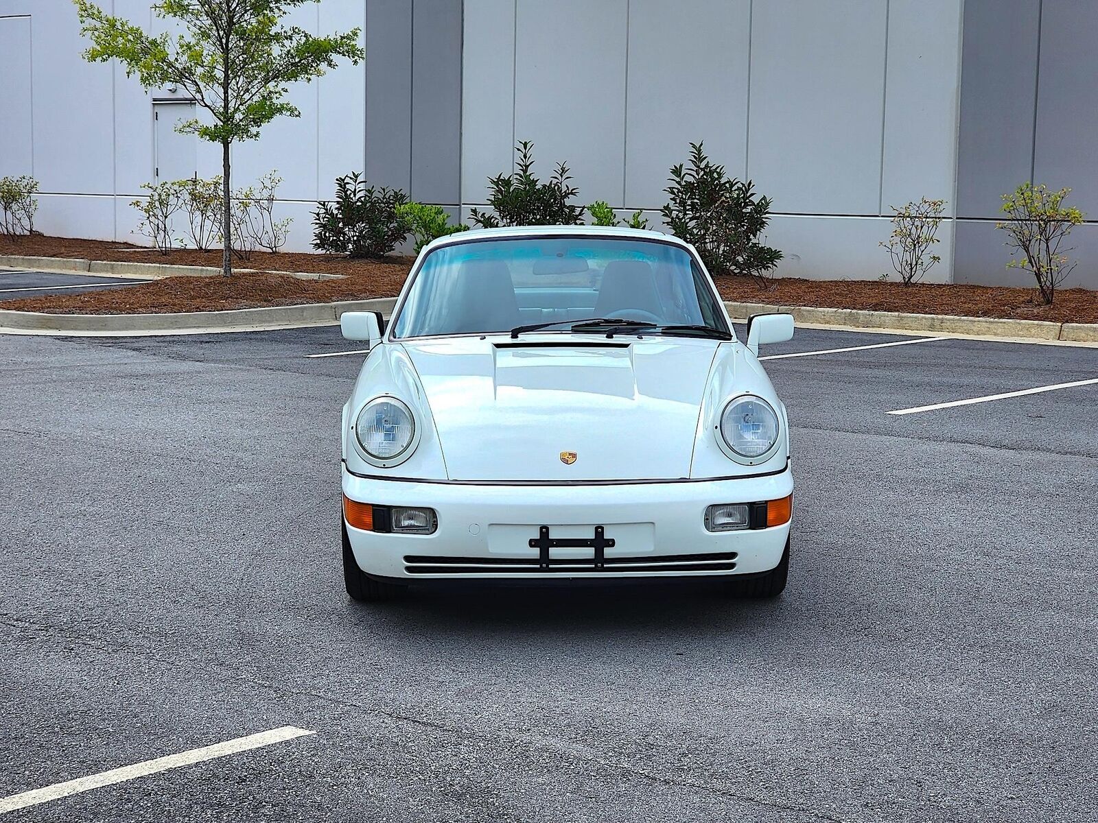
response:
<path id="1" fill-rule="evenodd" d="M 997 337 L 1030 340 L 1098 341 L 1098 324 L 1013 320 L 1001 317 L 962 317 L 943 314 L 867 312 L 855 308 L 817 308 L 814 306 L 771 306 L 763 303 L 725 303 L 735 319 L 753 314 L 786 312 L 805 325 L 842 326 L 895 331 L 955 334 L 972 337 Z"/>

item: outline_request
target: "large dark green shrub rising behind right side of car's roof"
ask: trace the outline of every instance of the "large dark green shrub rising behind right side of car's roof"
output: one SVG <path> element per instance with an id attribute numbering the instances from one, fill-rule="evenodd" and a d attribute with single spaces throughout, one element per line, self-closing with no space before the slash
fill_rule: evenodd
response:
<path id="1" fill-rule="evenodd" d="M 782 252 L 758 243 L 770 222 L 770 198 L 757 198 L 750 180 L 725 174 L 692 143 L 690 162 L 671 168 L 670 202 L 660 210 L 671 232 L 694 245 L 713 274 L 765 280 Z"/>

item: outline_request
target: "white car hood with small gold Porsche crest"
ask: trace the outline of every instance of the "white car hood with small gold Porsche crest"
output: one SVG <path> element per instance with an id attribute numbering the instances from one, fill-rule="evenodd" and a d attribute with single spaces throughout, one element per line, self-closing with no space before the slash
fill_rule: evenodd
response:
<path id="1" fill-rule="evenodd" d="M 450 480 L 614 481 L 690 477 L 719 341 L 547 335 L 403 347 Z"/>

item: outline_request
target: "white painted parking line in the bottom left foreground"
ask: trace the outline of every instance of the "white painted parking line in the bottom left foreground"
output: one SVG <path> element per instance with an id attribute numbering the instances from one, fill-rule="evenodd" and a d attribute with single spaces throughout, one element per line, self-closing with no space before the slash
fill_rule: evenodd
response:
<path id="1" fill-rule="evenodd" d="M 224 743 L 214 743 L 212 746 L 192 748 L 189 752 L 180 752 L 179 754 L 135 763 L 132 766 L 122 766 L 109 771 L 100 771 L 98 775 L 88 775 L 87 777 L 79 777 L 76 780 L 66 780 L 63 783 L 54 783 L 42 789 L 32 789 L 19 794 L 10 794 L 9 797 L 0 798 L 0 814 L 12 812 L 16 809 L 25 809 L 29 805 L 38 805 L 40 803 L 46 803 L 58 798 L 67 798 L 70 794 L 79 794 L 82 791 L 90 791 L 103 786 L 133 780 L 135 777 L 155 775 L 157 771 L 167 771 L 168 769 L 190 766 L 202 760 L 212 760 L 216 757 L 247 752 L 250 748 L 269 746 L 272 743 L 282 743 L 306 734 L 316 734 L 316 732 L 284 725 L 280 729 L 249 734 L 246 737 L 236 737 Z"/>

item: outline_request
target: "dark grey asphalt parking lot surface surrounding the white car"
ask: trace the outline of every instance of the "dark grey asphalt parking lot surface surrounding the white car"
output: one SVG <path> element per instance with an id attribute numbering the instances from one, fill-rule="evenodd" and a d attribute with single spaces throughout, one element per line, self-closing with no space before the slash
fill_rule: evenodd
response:
<path id="1" fill-rule="evenodd" d="M 0 337 L 0 811 L 292 726 L 4 819 L 1098 819 L 1098 348 L 912 339 L 763 352 L 797 483 L 776 601 L 365 607 L 336 328 Z"/>

